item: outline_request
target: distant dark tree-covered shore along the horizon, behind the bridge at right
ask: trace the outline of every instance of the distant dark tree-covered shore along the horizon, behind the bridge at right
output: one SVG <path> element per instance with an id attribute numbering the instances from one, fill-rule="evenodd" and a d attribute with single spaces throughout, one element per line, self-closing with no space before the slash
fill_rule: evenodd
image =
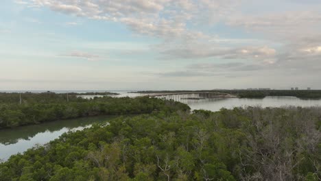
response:
<path id="1" fill-rule="evenodd" d="M 300 99 L 321 99 L 321 90 L 147 90 L 132 93 L 154 94 L 154 93 L 228 93 L 237 95 L 239 98 L 264 98 L 267 96 L 290 96 Z"/>

